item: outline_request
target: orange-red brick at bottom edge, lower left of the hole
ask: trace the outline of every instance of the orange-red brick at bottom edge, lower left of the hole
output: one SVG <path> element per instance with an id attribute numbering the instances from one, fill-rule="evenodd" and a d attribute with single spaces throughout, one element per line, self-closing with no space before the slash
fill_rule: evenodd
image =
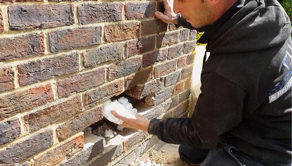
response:
<path id="1" fill-rule="evenodd" d="M 35 159 L 34 166 L 53 166 L 66 156 L 71 156 L 83 148 L 83 135 L 79 135 L 45 152 Z"/>

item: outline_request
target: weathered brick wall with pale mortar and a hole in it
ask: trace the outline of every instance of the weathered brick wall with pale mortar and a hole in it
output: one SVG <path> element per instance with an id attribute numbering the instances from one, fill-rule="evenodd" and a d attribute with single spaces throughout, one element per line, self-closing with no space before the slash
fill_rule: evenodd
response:
<path id="1" fill-rule="evenodd" d="M 0 166 L 128 165 L 157 142 L 131 131 L 84 148 L 102 102 L 125 92 L 154 117 L 188 107 L 196 31 L 154 18 L 163 3 L 0 0 Z"/>

